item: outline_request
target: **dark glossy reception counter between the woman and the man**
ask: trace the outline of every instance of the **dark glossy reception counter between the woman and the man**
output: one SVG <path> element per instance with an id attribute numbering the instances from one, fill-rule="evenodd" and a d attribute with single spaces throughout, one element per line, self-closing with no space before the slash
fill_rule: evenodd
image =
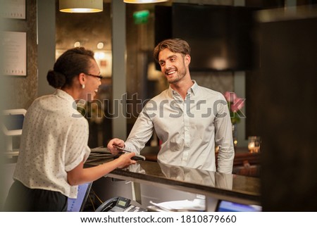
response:
<path id="1" fill-rule="evenodd" d="M 88 159 L 86 166 L 99 165 L 113 159 L 106 153 L 104 155 L 104 158 Z M 128 168 L 113 170 L 107 176 L 204 195 L 206 211 L 211 211 L 211 206 L 214 206 L 211 202 L 215 200 L 261 205 L 260 180 L 256 177 L 166 165 L 156 161 L 138 161 Z"/>

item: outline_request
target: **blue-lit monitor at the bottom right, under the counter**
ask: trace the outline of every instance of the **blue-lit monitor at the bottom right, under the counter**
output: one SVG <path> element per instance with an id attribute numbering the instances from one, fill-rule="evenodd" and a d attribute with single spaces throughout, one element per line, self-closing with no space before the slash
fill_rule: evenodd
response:
<path id="1" fill-rule="evenodd" d="M 257 205 L 246 205 L 232 201 L 219 200 L 216 212 L 261 212 L 262 207 Z"/>

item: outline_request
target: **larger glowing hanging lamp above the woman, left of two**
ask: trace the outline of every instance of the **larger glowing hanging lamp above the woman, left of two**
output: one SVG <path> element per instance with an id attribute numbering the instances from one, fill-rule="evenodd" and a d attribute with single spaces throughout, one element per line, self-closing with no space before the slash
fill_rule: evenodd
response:
<path id="1" fill-rule="evenodd" d="M 64 13 L 98 13 L 103 10 L 103 0 L 59 0 L 59 11 Z"/>

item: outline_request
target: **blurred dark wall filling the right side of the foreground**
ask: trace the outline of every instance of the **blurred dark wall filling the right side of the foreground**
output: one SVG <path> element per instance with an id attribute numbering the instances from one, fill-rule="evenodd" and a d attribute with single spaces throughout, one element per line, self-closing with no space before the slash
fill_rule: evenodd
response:
<path id="1" fill-rule="evenodd" d="M 317 211 L 317 11 L 310 9 L 310 16 L 278 13 L 259 23 L 261 68 L 253 85 L 263 211 Z"/>

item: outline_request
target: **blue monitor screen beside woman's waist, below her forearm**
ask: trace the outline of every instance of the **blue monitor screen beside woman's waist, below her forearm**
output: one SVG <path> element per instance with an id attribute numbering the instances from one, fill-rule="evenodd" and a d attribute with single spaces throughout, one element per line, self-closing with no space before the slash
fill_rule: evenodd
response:
<path id="1" fill-rule="evenodd" d="M 83 211 L 91 188 L 92 182 L 78 185 L 77 199 L 68 198 L 67 212 Z"/>

